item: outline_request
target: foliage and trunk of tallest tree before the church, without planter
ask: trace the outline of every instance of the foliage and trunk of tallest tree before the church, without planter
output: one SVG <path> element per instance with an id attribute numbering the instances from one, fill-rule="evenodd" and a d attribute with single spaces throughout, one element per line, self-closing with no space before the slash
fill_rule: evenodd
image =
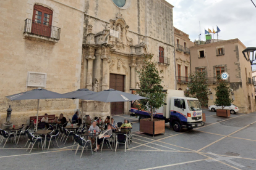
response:
<path id="1" fill-rule="evenodd" d="M 139 100 L 137 108 L 148 111 L 151 121 L 153 121 L 156 110 L 164 105 L 166 97 L 166 92 L 163 92 L 163 86 L 161 86 L 163 76 L 160 76 L 160 73 L 163 73 L 163 70 L 158 71 L 157 63 L 152 59 L 153 54 L 144 54 L 144 64 L 140 70 L 136 70 L 140 80 L 140 89 L 137 94 L 148 98 Z"/>

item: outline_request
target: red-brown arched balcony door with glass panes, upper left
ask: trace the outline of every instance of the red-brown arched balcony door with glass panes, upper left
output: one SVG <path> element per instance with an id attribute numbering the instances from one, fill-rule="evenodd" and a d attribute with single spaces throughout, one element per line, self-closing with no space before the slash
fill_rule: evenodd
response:
<path id="1" fill-rule="evenodd" d="M 53 10 L 35 5 L 32 20 L 32 33 L 47 37 L 51 36 Z"/>

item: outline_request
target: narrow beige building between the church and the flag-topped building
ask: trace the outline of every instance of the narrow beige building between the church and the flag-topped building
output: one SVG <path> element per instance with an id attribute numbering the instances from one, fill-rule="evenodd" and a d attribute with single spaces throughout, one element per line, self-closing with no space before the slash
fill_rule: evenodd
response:
<path id="1" fill-rule="evenodd" d="M 195 46 L 190 41 L 189 34 L 174 27 L 175 62 L 176 62 L 176 89 L 187 90 L 190 75 L 190 47 Z"/>

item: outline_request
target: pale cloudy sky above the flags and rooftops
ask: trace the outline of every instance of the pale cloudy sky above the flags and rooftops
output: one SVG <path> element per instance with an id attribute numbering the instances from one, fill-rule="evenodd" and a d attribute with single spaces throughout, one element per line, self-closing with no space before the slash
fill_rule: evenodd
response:
<path id="1" fill-rule="evenodd" d="M 220 28 L 219 39 L 238 38 L 247 47 L 256 47 L 256 0 L 166 0 L 174 6 L 174 26 L 189 34 L 190 41 L 205 41 L 205 29 Z M 199 22 L 201 29 L 199 27 Z M 217 38 L 216 34 L 214 38 Z M 252 67 L 256 69 L 256 65 Z"/>

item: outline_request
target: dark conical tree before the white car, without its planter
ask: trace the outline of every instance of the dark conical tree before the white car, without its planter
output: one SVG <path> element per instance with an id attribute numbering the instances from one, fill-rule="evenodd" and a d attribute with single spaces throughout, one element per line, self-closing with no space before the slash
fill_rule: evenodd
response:
<path id="1" fill-rule="evenodd" d="M 220 78 L 220 76 L 217 77 L 217 87 L 215 88 L 216 91 L 216 99 L 215 99 L 215 105 L 222 107 L 222 109 L 225 106 L 230 106 L 233 102 L 233 99 L 231 99 L 231 89 L 228 86 L 229 83 L 226 80 L 223 80 Z"/>

